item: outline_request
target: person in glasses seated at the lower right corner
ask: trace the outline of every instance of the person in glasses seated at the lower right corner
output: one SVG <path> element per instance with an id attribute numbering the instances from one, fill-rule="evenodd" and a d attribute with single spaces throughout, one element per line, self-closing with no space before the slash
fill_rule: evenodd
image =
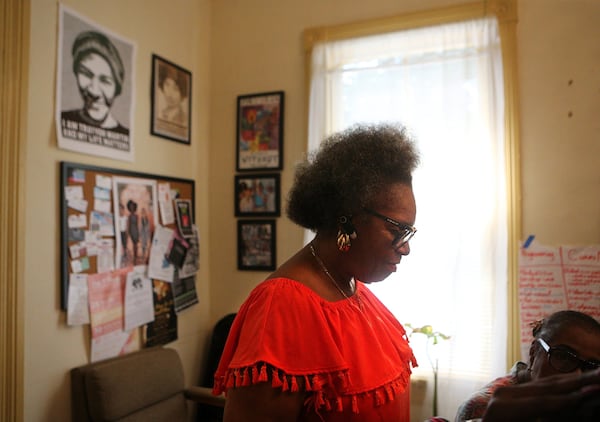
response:
<path id="1" fill-rule="evenodd" d="M 533 338 L 529 366 L 517 362 L 509 375 L 495 379 L 473 394 L 459 407 L 455 422 L 482 418 L 500 387 L 600 368 L 600 323 L 587 314 L 570 310 L 555 312 L 533 324 Z"/>

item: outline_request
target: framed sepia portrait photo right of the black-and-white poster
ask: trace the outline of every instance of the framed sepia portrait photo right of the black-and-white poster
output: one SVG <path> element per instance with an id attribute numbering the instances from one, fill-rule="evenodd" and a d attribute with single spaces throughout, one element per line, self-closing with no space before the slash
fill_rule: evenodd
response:
<path id="1" fill-rule="evenodd" d="M 192 74 L 153 54 L 150 133 L 189 145 L 191 95 Z"/>

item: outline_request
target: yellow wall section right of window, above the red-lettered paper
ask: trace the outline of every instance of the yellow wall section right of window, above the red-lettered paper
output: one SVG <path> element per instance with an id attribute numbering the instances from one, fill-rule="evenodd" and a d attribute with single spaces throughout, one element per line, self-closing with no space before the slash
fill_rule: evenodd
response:
<path id="1" fill-rule="evenodd" d="M 600 2 L 521 0 L 523 236 L 600 243 Z"/>

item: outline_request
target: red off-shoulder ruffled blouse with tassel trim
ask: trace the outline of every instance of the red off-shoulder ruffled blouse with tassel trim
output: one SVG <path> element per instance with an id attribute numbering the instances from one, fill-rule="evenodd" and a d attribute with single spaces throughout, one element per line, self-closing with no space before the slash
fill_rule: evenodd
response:
<path id="1" fill-rule="evenodd" d="M 213 392 L 270 380 L 307 392 L 302 421 L 408 422 L 417 362 L 406 332 L 356 286 L 350 299 L 328 302 L 295 280 L 259 284 L 233 322 Z"/>

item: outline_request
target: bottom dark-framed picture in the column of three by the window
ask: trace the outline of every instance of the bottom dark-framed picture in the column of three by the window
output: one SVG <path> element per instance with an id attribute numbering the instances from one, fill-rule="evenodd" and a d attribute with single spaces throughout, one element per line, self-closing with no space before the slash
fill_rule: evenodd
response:
<path id="1" fill-rule="evenodd" d="M 274 270 L 275 235 L 275 220 L 238 220 L 238 269 Z"/>

